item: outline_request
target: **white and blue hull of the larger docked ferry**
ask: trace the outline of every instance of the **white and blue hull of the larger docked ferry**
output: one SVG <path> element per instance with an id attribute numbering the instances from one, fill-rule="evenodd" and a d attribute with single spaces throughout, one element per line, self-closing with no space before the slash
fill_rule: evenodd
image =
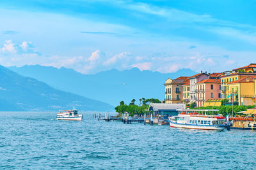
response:
<path id="1" fill-rule="evenodd" d="M 223 131 L 225 125 L 191 125 L 191 124 L 178 124 L 172 121 L 169 121 L 170 127 L 183 128 L 183 129 L 202 129 L 202 130 L 217 130 Z"/>

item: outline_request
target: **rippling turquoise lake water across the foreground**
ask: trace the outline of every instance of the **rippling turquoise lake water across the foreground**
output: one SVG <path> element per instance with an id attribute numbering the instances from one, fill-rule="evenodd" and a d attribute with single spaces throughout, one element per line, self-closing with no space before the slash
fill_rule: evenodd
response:
<path id="1" fill-rule="evenodd" d="M 255 169 L 255 131 L 0 113 L 0 169 Z"/>

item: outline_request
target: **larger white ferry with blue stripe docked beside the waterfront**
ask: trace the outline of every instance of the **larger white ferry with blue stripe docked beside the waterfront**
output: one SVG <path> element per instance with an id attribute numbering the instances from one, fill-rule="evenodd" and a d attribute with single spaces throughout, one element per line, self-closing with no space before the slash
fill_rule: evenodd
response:
<path id="1" fill-rule="evenodd" d="M 170 127 L 185 129 L 203 129 L 223 131 L 227 128 L 225 117 L 222 115 L 207 115 L 207 112 L 218 110 L 178 110 L 178 116 L 170 117 Z M 204 114 L 202 114 L 204 113 Z"/>

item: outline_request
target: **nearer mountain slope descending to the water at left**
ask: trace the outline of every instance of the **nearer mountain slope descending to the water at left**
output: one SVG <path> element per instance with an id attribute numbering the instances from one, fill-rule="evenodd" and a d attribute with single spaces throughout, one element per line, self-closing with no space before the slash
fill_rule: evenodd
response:
<path id="1" fill-rule="evenodd" d="M 53 89 L 0 66 L 0 111 L 60 110 L 73 106 L 84 111 L 113 110 L 107 103 Z"/>

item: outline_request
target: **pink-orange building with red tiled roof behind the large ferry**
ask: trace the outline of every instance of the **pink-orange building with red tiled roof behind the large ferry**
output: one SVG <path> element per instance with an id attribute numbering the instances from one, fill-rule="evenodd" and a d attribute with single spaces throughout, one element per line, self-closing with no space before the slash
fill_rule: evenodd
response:
<path id="1" fill-rule="evenodd" d="M 204 106 L 209 99 L 220 99 L 220 79 L 205 79 L 196 83 L 196 106 Z"/>

